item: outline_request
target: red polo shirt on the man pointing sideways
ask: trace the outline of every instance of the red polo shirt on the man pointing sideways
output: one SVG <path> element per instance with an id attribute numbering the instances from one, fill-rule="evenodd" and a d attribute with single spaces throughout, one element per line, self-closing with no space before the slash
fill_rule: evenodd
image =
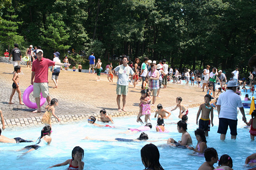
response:
<path id="1" fill-rule="evenodd" d="M 38 59 L 33 61 L 32 71 L 35 72 L 35 83 L 48 83 L 48 67 L 53 66 L 54 61 L 42 57 L 41 61 Z"/>

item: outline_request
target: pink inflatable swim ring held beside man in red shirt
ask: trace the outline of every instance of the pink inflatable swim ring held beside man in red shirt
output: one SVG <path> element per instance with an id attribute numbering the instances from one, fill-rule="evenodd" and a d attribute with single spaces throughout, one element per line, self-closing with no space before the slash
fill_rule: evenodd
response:
<path id="1" fill-rule="evenodd" d="M 37 109 L 38 108 L 37 103 L 31 102 L 29 99 L 29 95 L 31 92 L 33 92 L 33 85 L 30 85 L 28 88 L 26 88 L 25 92 L 23 93 L 23 103 L 31 109 Z M 40 95 L 41 95 L 40 107 L 42 107 L 44 105 L 46 99 L 43 98 L 42 93 Z"/>

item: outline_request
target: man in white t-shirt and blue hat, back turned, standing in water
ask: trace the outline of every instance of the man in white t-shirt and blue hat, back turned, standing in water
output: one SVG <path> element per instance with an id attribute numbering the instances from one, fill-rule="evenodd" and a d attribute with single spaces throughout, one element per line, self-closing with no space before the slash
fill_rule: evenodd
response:
<path id="1" fill-rule="evenodd" d="M 220 140 L 225 140 L 228 126 L 230 126 L 231 139 L 237 138 L 237 107 L 239 107 L 243 115 L 243 121 L 246 121 L 242 100 L 235 93 L 236 90 L 237 82 L 229 81 L 227 91 L 219 95 L 216 103 L 219 120 L 218 133 L 221 134 Z"/>

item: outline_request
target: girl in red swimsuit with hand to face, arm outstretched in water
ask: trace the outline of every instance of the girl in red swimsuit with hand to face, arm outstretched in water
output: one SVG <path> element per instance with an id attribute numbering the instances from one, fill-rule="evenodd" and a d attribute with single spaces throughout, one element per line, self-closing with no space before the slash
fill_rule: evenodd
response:
<path id="1" fill-rule="evenodd" d="M 69 164 L 68 168 L 83 170 L 83 166 L 84 166 L 84 162 L 82 161 L 83 155 L 84 155 L 83 148 L 76 146 L 72 150 L 72 159 L 68 159 L 64 163 L 59 163 L 59 164 L 50 166 L 49 168 L 56 167 L 56 166 L 65 166 Z"/>

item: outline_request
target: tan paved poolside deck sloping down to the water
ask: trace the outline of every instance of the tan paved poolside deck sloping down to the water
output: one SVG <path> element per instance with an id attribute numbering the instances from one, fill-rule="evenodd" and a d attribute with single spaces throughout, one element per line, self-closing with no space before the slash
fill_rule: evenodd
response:
<path id="1" fill-rule="evenodd" d="M 31 68 L 21 66 L 21 74 L 19 87 L 22 92 L 30 85 Z M 34 109 L 30 109 L 25 105 L 19 105 L 18 93 L 15 92 L 12 102 L 8 104 L 11 95 L 13 74 L 13 65 L 8 63 L 0 63 L 0 110 L 3 111 L 6 128 L 14 126 L 41 126 L 41 117 L 45 112 L 45 106 L 42 107 L 41 113 L 32 113 Z M 59 76 L 59 87 L 53 89 L 54 83 L 51 80 L 51 72 L 49 71 L 49 93 L 51 98 L 59 100 L 59 106 L 56 107 L 56 115 L 60 118 L 61 123 L 68 123 L 87 119 L 90 115 L 99 116 L 101 109 L 106 109 L 107 113 L 112 117 L 137 115 L 139 112 L 140 87 L 134 89 L 133 85 L 129 85 L 128 96 L 126 97 L 127 112 L 117 111 L 116 102 L 116 82 L 114 77 L 113 83 L 107 81 L 105 74 L 101 75 L 101 81 L 96 81 L 96 74 L 80 73 L 73 71 L 61 70 Z M 203 97 L 206 92 L 201 92 L 198 87 L 173 85 L 169 83 L 167 89 L 161 89 L 160 96 L 157 97 L 152 112 L 156 109 L 158 103 L 170 110 L 176 105 L 176 97 L 182 97 L 182 103 L 188 107 L 197 107 L 203 103 Z M 32 100 L 33 97 L 31 98 Z M 122 101 L 121 101 L 122 105 Z M 154 115 L 153 115 L 154 116 Z M 171 115 L 177 116 L 177 115 Z M 57 123 L 52 118 L 53 124 Z M 1 124 L 1 123 L 0 123 Z M 0 126 L 2 127 L 2 126 Z"/>

